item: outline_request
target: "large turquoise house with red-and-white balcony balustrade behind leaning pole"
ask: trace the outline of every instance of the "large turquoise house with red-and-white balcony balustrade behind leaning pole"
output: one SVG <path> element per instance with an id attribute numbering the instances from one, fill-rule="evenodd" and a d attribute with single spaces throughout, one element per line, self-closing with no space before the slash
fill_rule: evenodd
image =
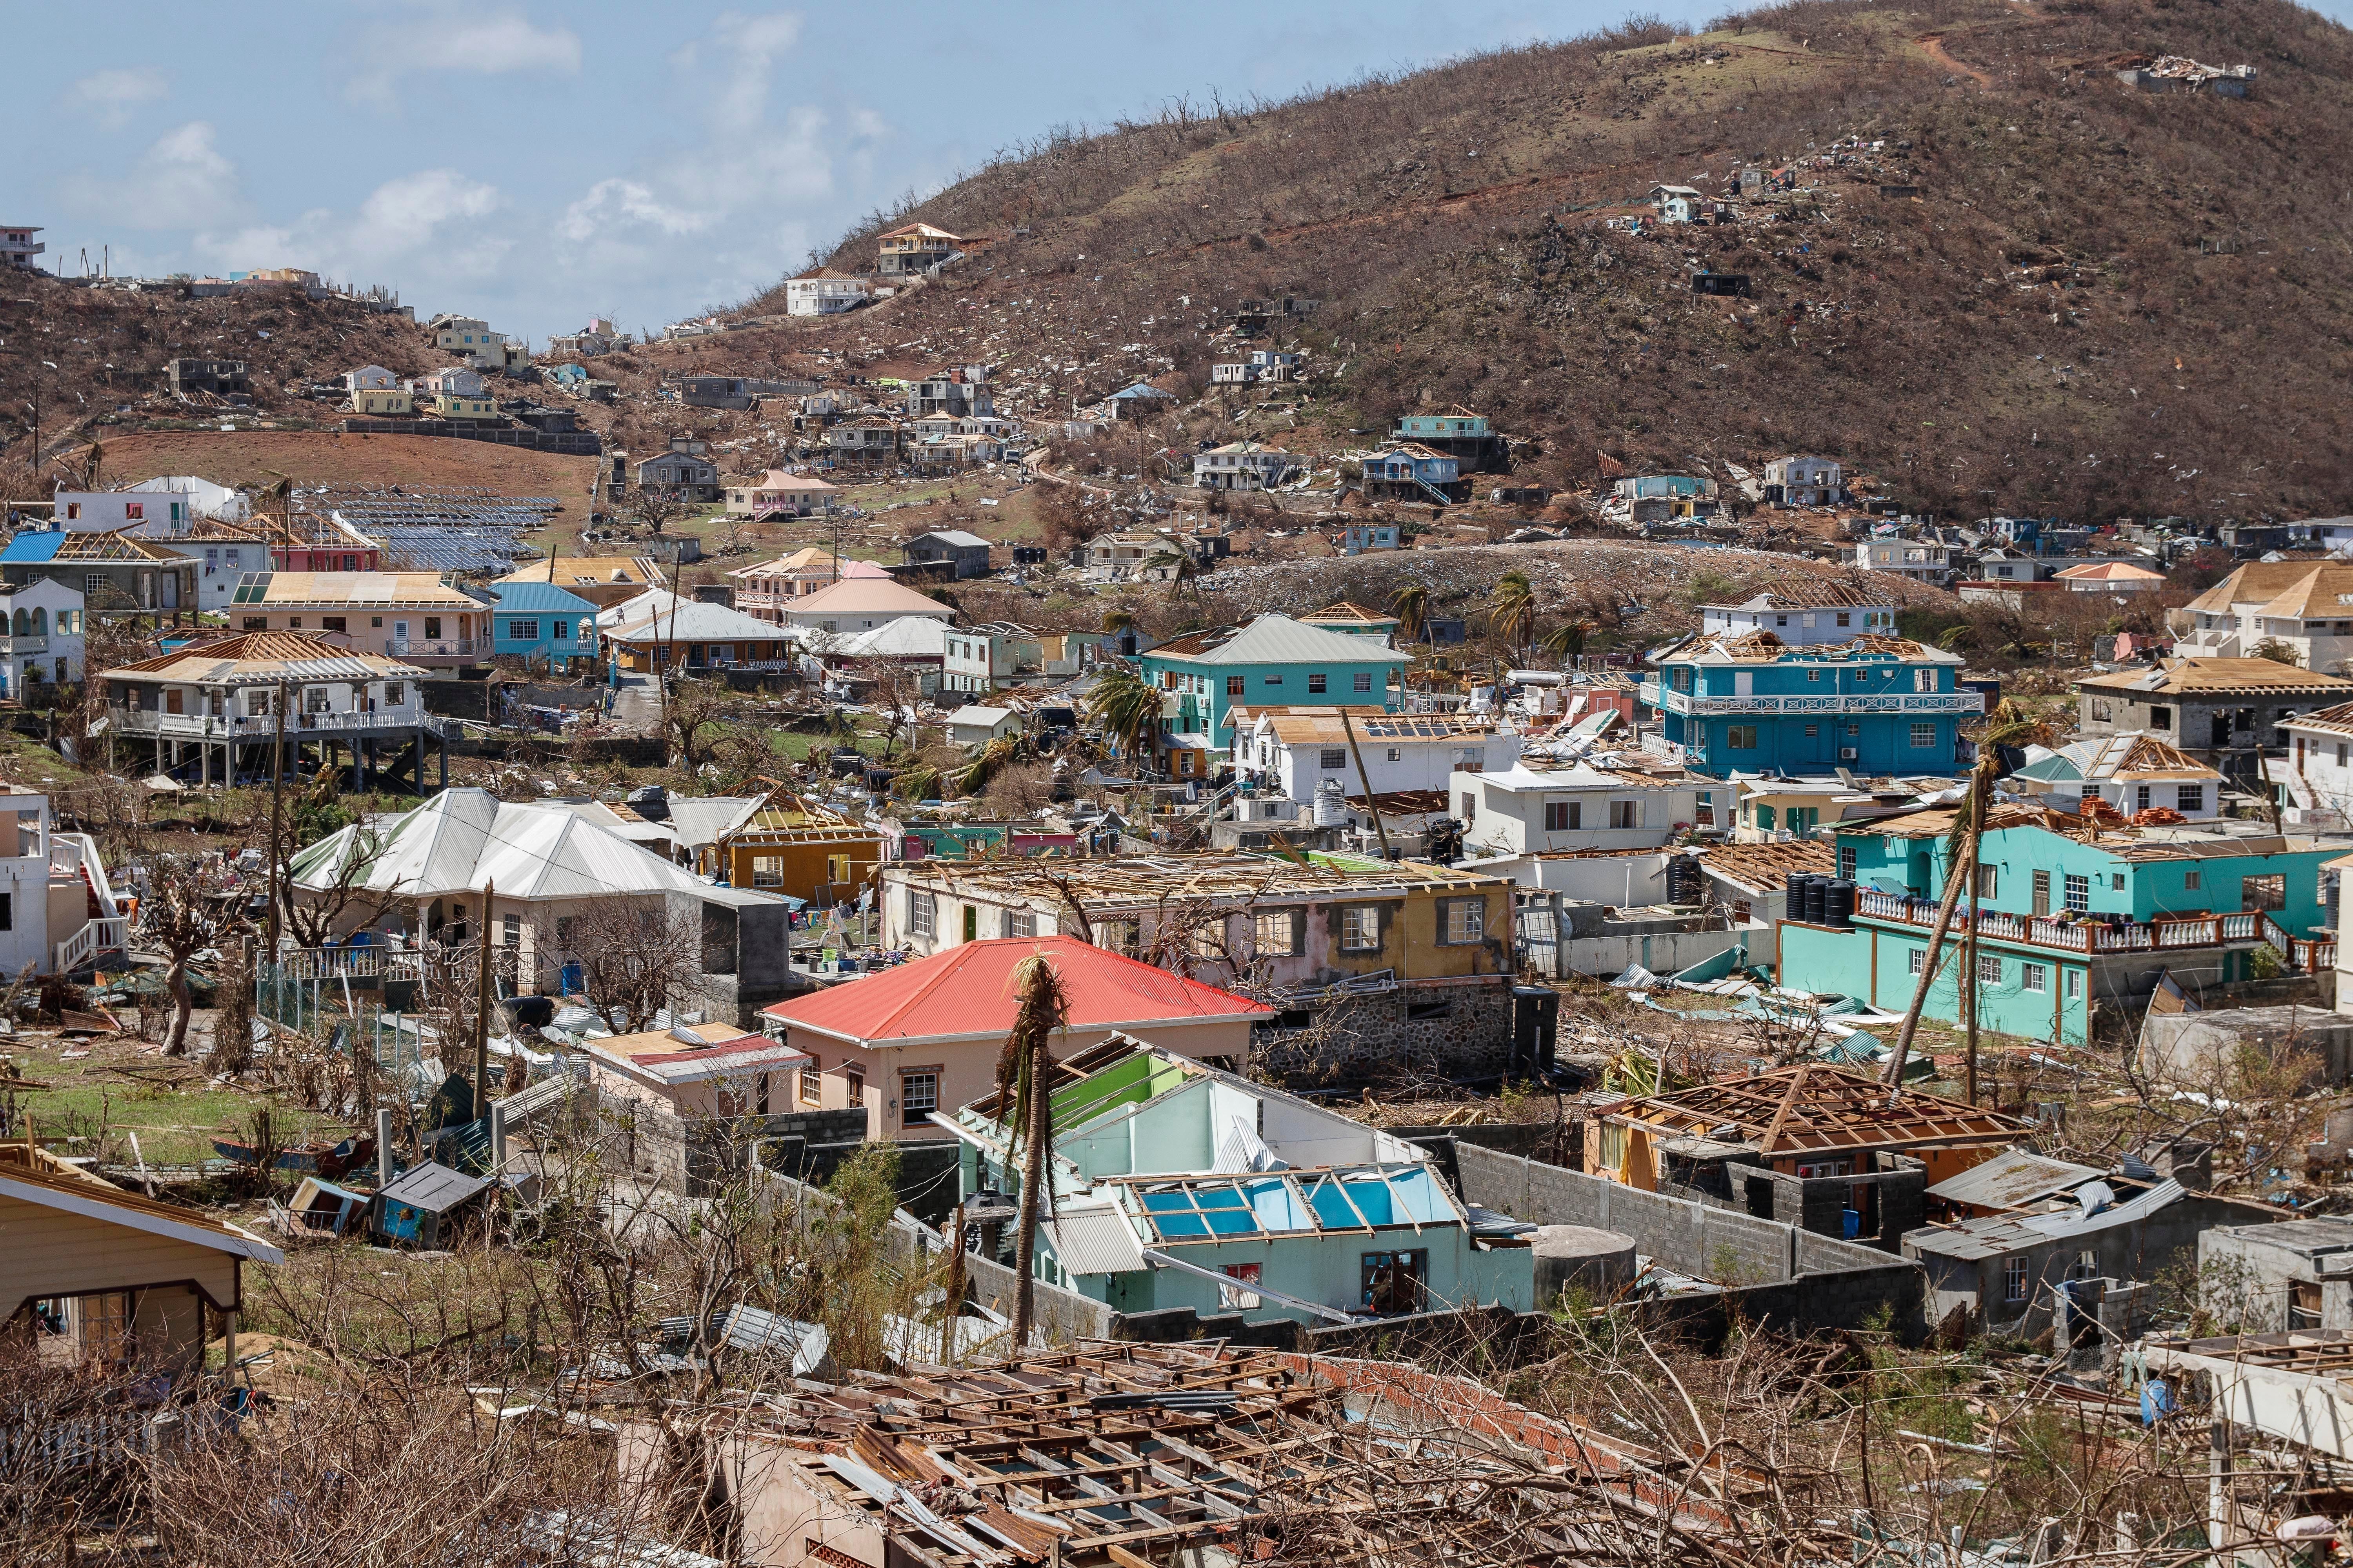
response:
<path id="1" fill-rule="evenodd" d="M 2315 839 L 2181 827 L 2057 832 L 2045 820 L 2042 811 L 1995 809 L 1979 851 L 1984 1030 L 2080 1046 L 2094 1006 L 2134 1013 L 2165 973 L 2195 992 L 2259 969 L 2337 964 L 2320 889 L 2320 865 L 2337 851 Z M 1906 1009 L 1937 924 L 1951 825 L 1953 813 L 1939 809 L 1838 827 L 1838 875 L 1854 884 L 1854 919 L 1784 919 L 1779 983 Z M 1965 900 L 1925 1018 L 1960 1023 L 1955 943 L 1967 919 Z"/>

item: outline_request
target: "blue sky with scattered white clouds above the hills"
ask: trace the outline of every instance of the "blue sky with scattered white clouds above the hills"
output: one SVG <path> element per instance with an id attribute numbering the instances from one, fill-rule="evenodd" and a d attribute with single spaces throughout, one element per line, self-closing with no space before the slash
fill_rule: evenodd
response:
<path id="1" fill-rule="evenodd" d="M 605 313 L 661 327 L 1056 125 L 1289 96 L 1626 9 L 0 0 L 24 99 L 0 221 L 45 226 L 66 270 L 106 244 L 115 273 L 304 266 L 534 341 Z"/>

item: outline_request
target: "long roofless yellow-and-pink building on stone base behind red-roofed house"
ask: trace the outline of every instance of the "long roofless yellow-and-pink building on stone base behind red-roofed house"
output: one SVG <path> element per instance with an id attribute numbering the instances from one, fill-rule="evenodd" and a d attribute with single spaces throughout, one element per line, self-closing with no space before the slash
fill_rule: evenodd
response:
<path id="1" fill-rule="evenodd" d="M 1247 990 L 1285 1034 L 1329 1013 L 1318 1058 L 1353 1077 L 1414 1051 L 1447 1072 L 1501 1072 L 1513 1048 L 1513 884 L 1360 856 L 1205 853 L 1073 860 L 911 860 L 882 867 L 882 943 L 941 952 L 998 936 L 1078 936 Z M 864 985 L 864 983 L 861 983 Z"/>

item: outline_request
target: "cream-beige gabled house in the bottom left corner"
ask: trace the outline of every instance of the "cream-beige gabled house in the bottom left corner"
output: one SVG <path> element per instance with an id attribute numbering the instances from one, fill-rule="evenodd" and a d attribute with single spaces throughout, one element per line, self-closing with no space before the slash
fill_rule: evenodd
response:
<path id="1" fill-rule="evenodd" d="M 235 1349 L 247 1258 L 285 1262 L 235 1225 L 0 1143 L 0 1316 L 45 1359 L 198 1373 L 209 1328 Z"/>

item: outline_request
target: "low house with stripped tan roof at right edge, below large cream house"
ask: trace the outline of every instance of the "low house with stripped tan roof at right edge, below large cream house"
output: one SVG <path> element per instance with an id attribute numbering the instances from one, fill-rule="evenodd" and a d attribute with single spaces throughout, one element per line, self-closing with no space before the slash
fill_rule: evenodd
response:
<path id="1" fill-rule="evenodd" d="M 2169 658 L 2085 675 L 2073 689 L 2075 731 L 2085 741 L 2151 733 L 2247 780 L 2261 771 L 2257 752 L 2287 748 L 2289 719 L 2353 701 L 2353 679 L 2271 658 Z"/>

